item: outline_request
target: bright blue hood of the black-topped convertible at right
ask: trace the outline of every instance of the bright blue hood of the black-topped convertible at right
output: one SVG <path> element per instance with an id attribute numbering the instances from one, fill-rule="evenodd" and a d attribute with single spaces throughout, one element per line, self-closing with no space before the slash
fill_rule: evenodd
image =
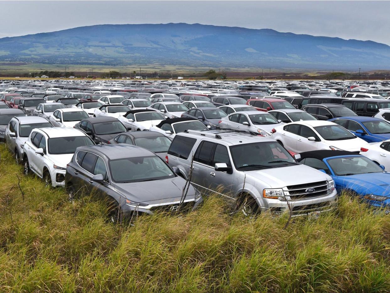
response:
<path id="1" fill-rule="evenodd" d="M 335 179 L 344 180 L 346 188 L 356 191 L 360 188 L 365 194 L 390 197 L 390 173 L 387 172 L 337 176 Z"/>

